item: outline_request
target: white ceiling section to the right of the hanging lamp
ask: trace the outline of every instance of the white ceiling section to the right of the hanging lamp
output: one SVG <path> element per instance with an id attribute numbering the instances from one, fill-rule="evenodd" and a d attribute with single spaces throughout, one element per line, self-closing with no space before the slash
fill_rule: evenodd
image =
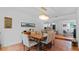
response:
<path id="1" fill-rule="evenodd" d="M 74 7 L 53 7 L 48 8 L 48 14 L 50 16 L 64 16 L 76 13 L 76 9 Z"/>

